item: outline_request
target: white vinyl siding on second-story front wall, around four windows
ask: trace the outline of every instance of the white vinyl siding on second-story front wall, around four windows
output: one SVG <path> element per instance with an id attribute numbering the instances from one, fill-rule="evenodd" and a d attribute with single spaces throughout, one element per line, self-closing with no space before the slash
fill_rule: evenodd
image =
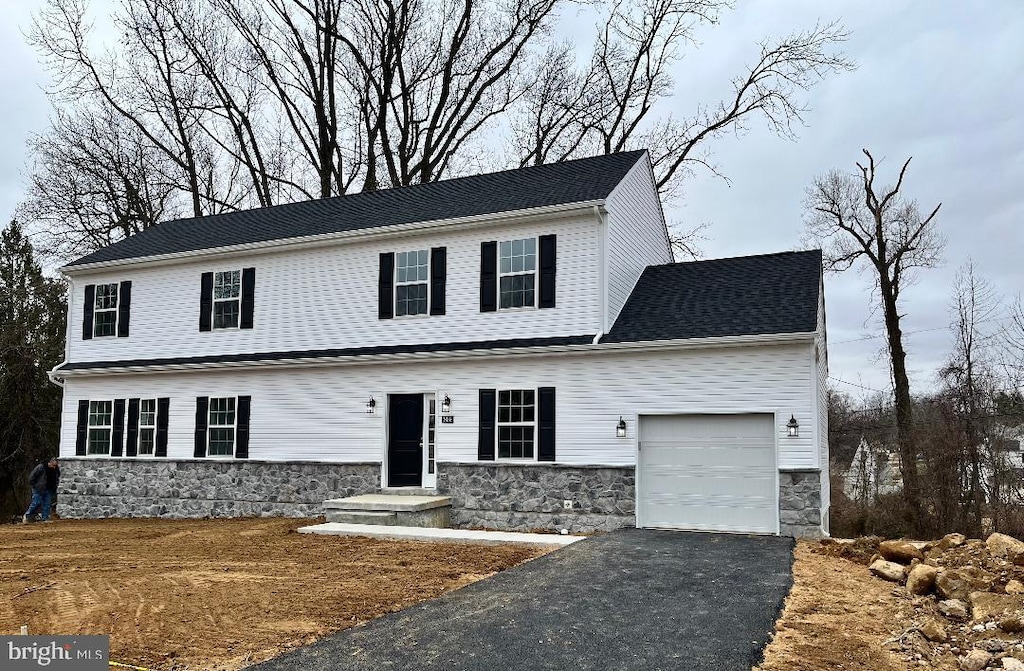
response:
<path id="1" fill-rule="evenodd" d="M 101 343 L 73 338 L 69 361 L 596 334 L 601 328 L 598 230 L 596 218 L 587 214 L 248 255 L 238 265 L 259 266 L 260 326 L 224 329 L 215 338 L 198 329 L 200 277 L 224 270 L 222 261 L 133 268 L 131 328 L 140 337 Z M 481 312 L 480 244 L 549 234 L 558 236 L 558 306 Z M 446 248 L 444 318 L 379 320 L 380 253 L 434 247 Z M 72 324 L 82 323 L 85 284 L 123 276 L 123 269 L 75 276 Z"/>

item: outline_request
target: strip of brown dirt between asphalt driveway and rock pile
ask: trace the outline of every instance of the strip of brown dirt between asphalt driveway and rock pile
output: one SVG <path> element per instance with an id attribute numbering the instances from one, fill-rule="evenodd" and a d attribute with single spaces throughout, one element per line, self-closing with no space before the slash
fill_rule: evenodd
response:
<path id="1" fill-rule="evenodd" d="M 883 643 L 912 618 L 910 599 L 867 568 L 797 544 L 793 591 L 761 671 L 903 671 Z"/>

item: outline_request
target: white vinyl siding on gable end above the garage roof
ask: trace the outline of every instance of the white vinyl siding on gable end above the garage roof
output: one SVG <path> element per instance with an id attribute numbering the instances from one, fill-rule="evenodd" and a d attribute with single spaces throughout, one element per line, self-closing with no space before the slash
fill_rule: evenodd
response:
<path id="1" fill-rule="evenodd" d="M 665 215 L 646 160 L 638 162 L 607 199 L 608 327 L 643 269 L 673 261 Z"/>

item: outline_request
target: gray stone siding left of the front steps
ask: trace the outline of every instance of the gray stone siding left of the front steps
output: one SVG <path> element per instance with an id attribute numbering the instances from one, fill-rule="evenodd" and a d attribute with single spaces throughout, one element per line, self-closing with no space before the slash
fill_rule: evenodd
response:
<path id="1" fill-rule="evenodd" d="M 316 517 L 380 491 L 375 463 L 62 459 L 61 517 Z"/>

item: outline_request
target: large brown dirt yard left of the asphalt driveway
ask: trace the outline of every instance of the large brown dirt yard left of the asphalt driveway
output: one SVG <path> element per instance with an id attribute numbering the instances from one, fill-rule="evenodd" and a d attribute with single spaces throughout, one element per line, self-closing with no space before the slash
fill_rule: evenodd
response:
<path id="1" fill-rule="evenodd" d="M 547 551 L 295 533 L 308 523 L 0 527 L 0 633 L 111 634 L 117 662 L 233 670 Z"/>

